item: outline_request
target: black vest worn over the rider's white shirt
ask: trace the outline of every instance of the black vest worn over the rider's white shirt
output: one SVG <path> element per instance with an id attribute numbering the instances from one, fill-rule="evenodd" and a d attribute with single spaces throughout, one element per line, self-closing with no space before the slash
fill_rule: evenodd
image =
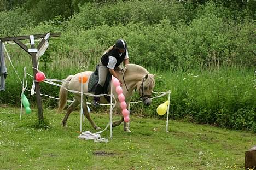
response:
<path id="1" fill-rule="evenodd" d="M 106 54 L 104 54 L 101 57 L 101 62 L 104 66 L 108 66 L 108 56 L 113 56 L 115 57 L 115 59 L 117 59 L 117 63 L 115 64 L 115 68 L 117 68 L 123 61 L 126 55 L 126 51 L 124 53 L 122 53 L 122 55 L 120 56 L 118 53 L 118 49 L 112 49 L 109 52 L 106 52 Z"/>

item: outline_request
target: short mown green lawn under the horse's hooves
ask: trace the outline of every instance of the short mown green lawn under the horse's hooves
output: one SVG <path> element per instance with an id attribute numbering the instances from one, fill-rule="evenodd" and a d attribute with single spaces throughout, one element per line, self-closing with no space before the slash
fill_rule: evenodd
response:
<path id="1" fill-rule="evenodd" d="M 121 124 L 108 143 L 95 143 L 77 138 L 79 110 L 61 127 L 64 114 L 44 109 L 47 129 L 36 128 L 36 108 L 21 121 L 19 113 L 20 108 L 0 109 L 0 169 L 244 169 L 245 151 L 256 145 L 251 132 L 170 120 L 166 133 L 165 119 L 136 115 L 131 133 Z M 107 113 L 91 117 L 101 128 L 109 122 Z M 95 132 L 87 120 L 83 131 Z M 109 130 L 101 136 L 109 138 Z"/>

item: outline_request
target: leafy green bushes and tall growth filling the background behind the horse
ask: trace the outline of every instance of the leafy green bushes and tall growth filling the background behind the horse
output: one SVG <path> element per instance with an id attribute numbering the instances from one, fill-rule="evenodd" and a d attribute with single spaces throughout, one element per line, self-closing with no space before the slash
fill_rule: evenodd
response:
<path id="1" fill-rule="evenodd" d="M 26 1 L 24 8 L 2 11 L 0 30 L 2 36 L 61 32 L 61 37 L 50 38 L 50 47 L 41 57 L 40 69 L 47 77 L 65 79 L 94 70 L 102 52 L 123 38 L 131 63 L 159 72 L 155 90 L 171 89 L 171 118 L 256 131 L 251 1 L 235 1 L 229 7 L 231 1 L 217 0 L 77 0 L 56 1 L 51 9 L 47 5 L 53 1 L 33 2 L 34 8 L 28 9 L 32 1 Z M 43 15 L 43 9 L 49 13 Z M 7 48 L 22 77 L 23 67 L 31 67 L 30 58 L 13 46 Z M 20 92 L 13 89 L 19 89 L 20 83 L 14 71 L 8 69 L 8 74 L 8 88 L 1 92 L 0 103 L 16 105 Z M 50 96 L 56 97 L 58 90 L 41 85 L 42 93 Z M 33 96 L 27 97 L 35 103 Z M 146 110 L 143 115 L 160 118 L 155 108 L 164 100 L 158 99 L 149 108 L 135 104 L 132 113 Z M 46 107 L 56 107 L 56 101 L 43 101 Z"/>

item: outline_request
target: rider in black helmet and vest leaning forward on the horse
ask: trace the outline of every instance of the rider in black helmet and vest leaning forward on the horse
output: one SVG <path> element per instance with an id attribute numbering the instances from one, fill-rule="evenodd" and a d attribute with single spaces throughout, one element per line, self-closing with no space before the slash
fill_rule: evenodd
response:
<path id="1" fill-rule="evenodd" d="M 101 57 L 100 67 L 98 68 L 98 84 L 96 86 L 95 95 L 103 93 L 103 86 L 107 77 L 107 74 L 112 74 L 118 79 L 117 72 L 115 69 L 124 61 L 125 66 L 129 64 L 129 56 L 127 50 L 127 44 L 125 40 L 118 39 L 113 46 L 104 52 Z M 118 79 L 120 81 L 120 79 Z M 120 81 L 120 86 L 122 83 Z M 98 105 L 100 97 L 94 97 L 92 104 Z"/>

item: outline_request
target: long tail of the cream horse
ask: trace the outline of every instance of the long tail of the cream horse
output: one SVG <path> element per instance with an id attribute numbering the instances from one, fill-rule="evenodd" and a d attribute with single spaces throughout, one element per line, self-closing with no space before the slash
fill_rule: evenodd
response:
<path id="1" fill-rule="evenodd" d="M 66 106 L 67 104 L 67 95 L 68 95 L 68 91 L 66 90 L 68 85 L 69 85 L 69 81 L 73 78 L 73 75 L 69 75 L 66 80 L 62 83 L 61 88 L 60 88 L 60 93 L 59 93 L 59 107 L 57 109 L 57 113 L 60 113 Z"/>

